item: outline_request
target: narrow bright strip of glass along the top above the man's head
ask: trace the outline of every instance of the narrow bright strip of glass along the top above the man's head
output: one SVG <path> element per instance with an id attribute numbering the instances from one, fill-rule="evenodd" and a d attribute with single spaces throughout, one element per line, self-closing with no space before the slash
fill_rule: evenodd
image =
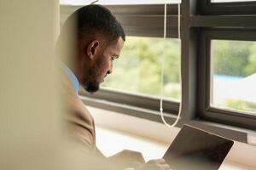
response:
<path id="1" fill-rule="evenodd" d="M 60 0 L 61 4 L 87 5 L 95 0 Z M 102 5 L 123 5 L 123 4 L 173 4 L 181 3 L 181 0 L 100 0 L 96 4 Z"/>

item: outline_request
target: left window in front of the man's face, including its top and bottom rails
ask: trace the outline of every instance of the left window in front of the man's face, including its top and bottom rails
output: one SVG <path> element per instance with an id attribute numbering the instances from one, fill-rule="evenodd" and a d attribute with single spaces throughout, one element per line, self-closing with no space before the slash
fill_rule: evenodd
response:
<path id="1" fill-rule="evenodd" d="M 96 106 L 158 120 L 161 60 L 165 58 L 163 108 L 165 114 L 172 118 L 172 115 L 177 114 L 181 99 L 181 42 L 177 40 L 177 5 L 167 6 L 166 40 L 163 39 L 163 7 L 163 4 L 108 6 L 120 20 L 127 38 L 120 58 L 114 60 L 113 73 L 102 83 L 101 90 L 96 94 L 80 90 L 80 95 L 87 104 L 95 106 L 96 102 L 110 102 L 109 105 L 101 103 Z M 65 13 L 70 9 L 63 6 L 61 11 Z M 95 102 L 85 99 L 86 97 L 95 99 Z M 116 105 L 121 106 L 117 109 Z M 142 114 L 142 111 L 148 113 Z"/>

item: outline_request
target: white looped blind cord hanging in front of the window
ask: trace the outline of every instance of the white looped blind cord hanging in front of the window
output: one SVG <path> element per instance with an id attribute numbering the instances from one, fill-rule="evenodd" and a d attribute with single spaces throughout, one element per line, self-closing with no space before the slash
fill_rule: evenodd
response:
<path id="1" fill-rule="evenodd" d="M 180 3 L 177 3 L 177 37 L 178 37 L 178 39 L 180 39 Z M 166 41 L 166 4 L 165 4 L 165 16 L 164 16 L 164 40 Z M 162 122 L 164 122 L 164 124 L 167 127 L 175 127 L 180 118 L 181 108 L 182 108 L 182 100 L 180 100 L 177 118 L 176 118 L 175 122 L 173 122 L 172 125 L 170 125 L 169 123 L 166 122 L 164 114 L 163 114 L 164 73 L 165 73 L 165 56 L 162 58 L 162 67 L 161 67 L 160 116 L 161 116 Z M 182 86 L 181 69 L 179 71 L 179 79 L 180 79 L 180 85 Z M 182 90 L 181 90 L 181 96 L 182 96 Z"/>

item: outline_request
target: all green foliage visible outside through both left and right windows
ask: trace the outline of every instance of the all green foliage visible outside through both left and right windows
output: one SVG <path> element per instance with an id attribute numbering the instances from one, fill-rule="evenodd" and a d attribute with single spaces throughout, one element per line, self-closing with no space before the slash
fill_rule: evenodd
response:
<path id="1" fill-rule="evenodd" d="M 256 42 L 213 40 L 211 48 L 214 75 L 247 77 L 256 72 Z M 180 99 L 180 56 L 177 39 L 127 37 L 121 56 L 113 63 L 113 74 L 103 87 L 158 97 L 164 59 L 164 96 Z M 222 106 L 256 111 L 256 101 L 228 99 Z"/>

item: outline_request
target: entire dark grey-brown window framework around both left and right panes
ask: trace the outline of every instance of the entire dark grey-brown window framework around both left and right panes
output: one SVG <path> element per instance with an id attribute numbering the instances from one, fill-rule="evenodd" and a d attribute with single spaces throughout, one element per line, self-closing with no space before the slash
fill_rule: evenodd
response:
<path id="1" fill-rule="evenodd" d="M 181 119 L 177 127 L 188 123 L 201 127 L 226 138 L 247 143 L 247 133 L 255 130 L 253 117 L 237 115 L 207 107 L 207 50 L 209 36 L 214 38 L 235 38 L 234 32 L 248 40 L 252 37 L 244 32 L 255 31 L 256 2 L 209 3 L 210 0 L 185 0 L 181 3 L 181 67 L 182 96 Z M 225 5 L 219 7 L 219 5 Z M 250 5 L 253 4 L 253 8 Z M 236 7 L 235 7 L 236 6 Z M 230 7 L 234 7 L 230 9 Z M 76 8 L 61 6 L 61 14 L 71 14 Z M 163 37 L 164 5 L 113 5 L 107 6 L 121 22 L 128 36 Z M 144 20 L 145 19 L 145 22 Z M 63 19 L 61 20 L 63 23 Z M 143 26 L 142 26 L 143 24 Z M 230 32 L 230 33 L 227 33 Z M 233 33 L 232 33 L 233 32 Z M 177 38 L 177 4 L 167 5 L 166 37 Z M 227 33 L 227 34 L 226 34 Z M 238 35 L 239 35 L 238 34 Z M 254 39 L 253 39 L 254 40 Z M 208 87 L 209 88 L 209 87 Z M 137 116 L 154 122 L 162 122 L 158 99 L 148 96 L 113 92 L 102 89 L 96 94 L 79 92 L 85 105 Z M 210 98 L 209 98 L 210 99 Z M 209 103 L 209 102 L 208 102 Z M 164 116 L 167 122 L 174 122 L 179 103 L 164 100 Z M 224 112 L 224 113 L 222 113 Z M 218 117 L 222 113 L 223 116 Z M 233 117 L 232 117 L 233 116 Z M 232 118 L 230 118 L 232 117 Z M 253 118 L 253 120 L 250 120 Z M 230 121 L 231 120 L 231 121 Z M 249 122 L 249 123 L 248 123 Z"/>

